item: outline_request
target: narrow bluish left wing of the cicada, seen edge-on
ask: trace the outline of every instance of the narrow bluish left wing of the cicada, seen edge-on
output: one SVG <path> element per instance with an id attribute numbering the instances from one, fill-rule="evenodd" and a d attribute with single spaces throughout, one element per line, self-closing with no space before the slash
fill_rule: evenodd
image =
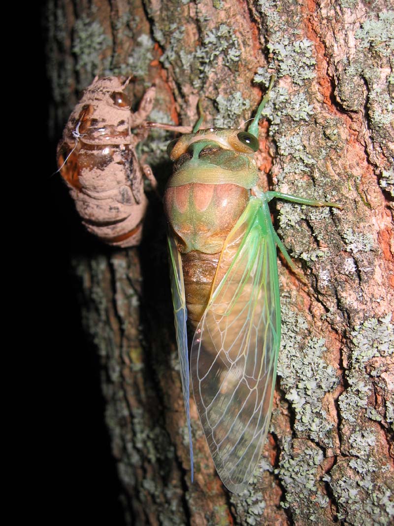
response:
<path id="1" fill-rule="evenodd" d="M 190 448 L 190 467 L 191 479 L 193 482 L 193 444 L 192 432 L 190 427 L 190 405 L 189 405 L 189 355 L 188 355 L 188 335 L 186 332 L 186 300 L 185 287 L 183 283 L 182 260 L 177 243 L 173 236 L 168 236 L 168 251 L 170 257 L 170 280 L 172 302 L 174 306 L 175 333 L 177 336 L 179 363 L 181 366 L 182 391 L 185 401 L 186 420 L 189 431 Z"/>

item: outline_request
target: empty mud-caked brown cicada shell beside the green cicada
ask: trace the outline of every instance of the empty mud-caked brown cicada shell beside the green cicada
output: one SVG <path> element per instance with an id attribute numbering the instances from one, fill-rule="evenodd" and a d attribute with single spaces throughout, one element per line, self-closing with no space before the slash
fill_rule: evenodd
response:
<path id="1" fill-rule="evenodd" d="M 127 84 L 118 77 L 96 78 L 68 119 L 57 149 L 60 174 L 82 222 L 102 241 L 119 247 L 139 244 L 148 204 L 143 175 L 155 184 L 135 149 L 147 135 L 143 124 L 155 88 L 147 90 L 132 113 Z"/>

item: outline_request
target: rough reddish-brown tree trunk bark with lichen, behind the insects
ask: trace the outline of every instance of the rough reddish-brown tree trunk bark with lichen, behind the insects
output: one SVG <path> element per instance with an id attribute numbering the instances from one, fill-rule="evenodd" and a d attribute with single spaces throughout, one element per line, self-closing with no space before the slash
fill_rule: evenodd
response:
<path id="1" fill-rule="evenodd" d="M 279 265 L 283 337 L 271 433 L 250 489 L 238 497 L 215 474 L 194 405 L 190 483 L 160 204 L 153 202 L 141 249 L 97 244 L 93 255 L 74 256 L 125 523 L 392 523 L 388 3 L 51 0 L 47 21 L 59 136 L 95 75 L 134 74 L 136 102 L 154 82 L 151 120 L 194 123 L 202 97 L 207 126 L 237 127 L 275 73 L 259 154 L 263 187 L 344 207 L 272 208 L 308 285 Z M 162 186 L 164 144 L 156 131 L 140 152 Z"/>

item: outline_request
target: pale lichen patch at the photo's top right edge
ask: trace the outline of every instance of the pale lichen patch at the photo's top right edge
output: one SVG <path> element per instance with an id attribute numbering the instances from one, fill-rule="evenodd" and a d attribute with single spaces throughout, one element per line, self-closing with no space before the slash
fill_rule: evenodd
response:
<path id="1" fill-rule="evenodd" d="M 394 11 L 378 14 L 378 20 L 369 18 L 355 33 L 360 49 L 370 49 L 382 56 L 394 51 Z"/>

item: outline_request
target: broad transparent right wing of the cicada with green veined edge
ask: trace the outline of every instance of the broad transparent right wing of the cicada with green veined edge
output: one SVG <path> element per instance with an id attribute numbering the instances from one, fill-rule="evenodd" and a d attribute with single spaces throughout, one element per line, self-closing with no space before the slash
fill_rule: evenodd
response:
<path id="1" fill-rule="evenodd" d="M 252 197 L 226 238 L 191 349 L 202 427 L 234 493 L 252 477 L 271 418 L 281 330 L 272 230 L 266 203 Z"/>

